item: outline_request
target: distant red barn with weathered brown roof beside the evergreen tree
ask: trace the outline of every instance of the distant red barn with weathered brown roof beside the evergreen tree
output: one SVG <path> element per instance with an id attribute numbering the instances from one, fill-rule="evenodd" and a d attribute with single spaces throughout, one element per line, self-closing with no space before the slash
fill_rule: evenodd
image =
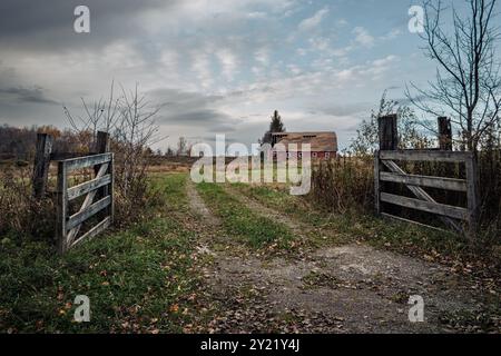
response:
<path id="1" fill-rule="evenodd" d="M 289 151 L 291 144 L 297 145 L 299 151 L 302 145 L 310 144 L 313 159 L 330 159 L 337 155 L 337 136 L 335 132 L 275 132 L 272 134 L 272 146 L 276 144 L 285 146 L 287 157 L 296 155 L 296 152 Z M 273 155 L 276 157 L 275 150 Z"/>

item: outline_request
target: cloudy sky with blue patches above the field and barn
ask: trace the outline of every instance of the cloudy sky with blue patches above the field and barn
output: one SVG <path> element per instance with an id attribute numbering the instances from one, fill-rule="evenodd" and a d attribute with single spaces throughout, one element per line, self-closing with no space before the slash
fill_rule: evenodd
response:
<path id="1" fill-rule="evenodd" d="M 273 110 L 288 131 L 345 147 L 384 89 L 403 97 L 435 67 L 407 30 L 409 0 L 1 0 L 0 123 L 68 126 L 62 105 L 135 82 L 164 103 L 168 144 L 256 142 Z M 76 33 L 73 9 L 90 9 Z"/>

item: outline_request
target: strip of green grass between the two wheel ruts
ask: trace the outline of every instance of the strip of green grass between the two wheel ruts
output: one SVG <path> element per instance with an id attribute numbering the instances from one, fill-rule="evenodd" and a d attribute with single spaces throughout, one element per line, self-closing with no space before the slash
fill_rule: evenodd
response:
<path id="1" fill-rule="evenodd" d="M 198 191 L 222 219 L 229 235 L 245 241 L 253 248 L 277 244 L 281 248 L 288 248 L 294 239 L 292 231 L 284 226 L 261 216 L 244 206 L 238 199 L 227 194 L 222 185 L 200 184 Z"/>

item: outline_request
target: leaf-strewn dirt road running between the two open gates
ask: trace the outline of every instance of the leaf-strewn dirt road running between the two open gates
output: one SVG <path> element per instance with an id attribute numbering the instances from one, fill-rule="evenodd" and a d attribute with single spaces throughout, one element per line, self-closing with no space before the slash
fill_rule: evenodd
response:
<path id="1" fill-rule="evenodd" d="M 213 332 L 449 333 L 458 332 L 448 323 L 452 314 L 482 308 L 474 286 L 449 268 L 363 244 L 308 250 L 298 258 L 243 253 L 195 186 L 187 190 L 204 231 L 198 250 L 213 261 L 204 267 L 207 288 L 224 305 Z M 311 228 L 227 191 L 294 234 Z M 422 323 L 410 322 L 411 296 L 424 301 Z"/>

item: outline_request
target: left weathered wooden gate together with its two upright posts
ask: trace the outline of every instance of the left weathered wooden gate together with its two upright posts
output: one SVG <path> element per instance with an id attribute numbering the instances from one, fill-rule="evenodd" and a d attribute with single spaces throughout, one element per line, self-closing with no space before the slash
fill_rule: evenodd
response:
<path id="1" fill-rule="evenodd" d="M 47 192 L 50 161 L 56 161 L 57 174 L 57 226 L 58 250 L 63 254 L 85 239 L 95 237 L 107 229 L 114 219 L 114 155 L 109 151 L 109 136 L 98 132 L 96 154 L 76 157 L 75 154 L 51 154 L 53 139 L 49 135 L 39 135 L 33 170 L 33 196 L 42 198 Z M 71 174 L 94 168 L 94 178 L 71 186 Z M 70 204 L 82 202 L 75 214 L 70 214 Z M 91 218 L 99 221 L 94 226 Z M 87 221 L 88 229 L 81 233 Z"/>

